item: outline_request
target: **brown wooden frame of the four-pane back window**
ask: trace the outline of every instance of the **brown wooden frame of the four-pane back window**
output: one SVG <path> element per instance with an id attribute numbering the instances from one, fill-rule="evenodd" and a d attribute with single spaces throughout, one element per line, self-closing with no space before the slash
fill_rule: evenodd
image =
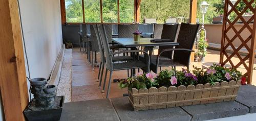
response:
<path id="1" fill-rule="evenodd" d="M 66 25 L 79 25 L 81 23 L 87 23 L 87 24 L 131 24 L 133 22 L 120 22 L 120 10 L 119 10 L 119 0 L 117 0 L 117 22 L 103 22 L 103 16 L 102 16 L 102 0 L 98 0 L 100 1 L 100 22 L 86 22 L 86 18 L 85 18 L 85 13 L 84 13 L 84 0 L 82 1 L 82 17 L 83 17 L 83 22 L 67 22 L 67 18 L 66 18 L 66 8 L 65 8 L 65 0 L 60 0 L 60 6 L 64 6 L 61 7 L 61 18 L 62 18 L 62 24 L 66 24 Z M 134 0 L 134 21 L 136 20 L 136 14 L 137 14 L 137 10 L 136 10 L 136 1 Z"/>

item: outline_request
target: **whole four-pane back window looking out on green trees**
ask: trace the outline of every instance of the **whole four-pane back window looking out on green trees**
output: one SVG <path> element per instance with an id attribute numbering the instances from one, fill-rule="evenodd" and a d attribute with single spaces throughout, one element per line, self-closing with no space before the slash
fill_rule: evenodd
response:
<path id="1" fill-rule="evenodd" d="M 61 0 L 65 1 L 68 23 L 132 23 L 135 0 Z M 102 5 L 102 6 L 101 6 Z M 119 11 L 118 11 L 119 10 Z"/>

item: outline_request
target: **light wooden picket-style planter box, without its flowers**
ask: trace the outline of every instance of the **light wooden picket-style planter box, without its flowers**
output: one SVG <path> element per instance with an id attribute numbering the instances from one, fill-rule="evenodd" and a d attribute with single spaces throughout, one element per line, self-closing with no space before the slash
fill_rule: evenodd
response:
<path id="1" fill-rule="evenodd" d="M 216 82 L 186 86 L 151 87 L 129 90 L 129 101 L 135 111 L 234 101 L 241 81 Z"/>

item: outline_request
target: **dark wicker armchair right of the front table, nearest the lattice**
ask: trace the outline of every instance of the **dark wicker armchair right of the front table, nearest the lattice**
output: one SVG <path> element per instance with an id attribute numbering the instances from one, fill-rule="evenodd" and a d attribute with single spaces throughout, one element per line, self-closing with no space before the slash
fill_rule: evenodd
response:
<path id="1" fill-rule="evenodd" d="M 197 36 L 199 25 L 190 25 L 187 23 L 181 23 L 179 36 L 177 42 L 179 45 L 176 49 L 164 49 L 158 55 L 156 59 L 151 60 L 150 68 L 157 73 L 158 66 L 186 66 L 189 69 L 189 60 L 191 52 L 194 52 L 193 45 Z M 162 54 L 166 52 L 173 52 L 174 58 L 172 60 L 160 59 Z"/>

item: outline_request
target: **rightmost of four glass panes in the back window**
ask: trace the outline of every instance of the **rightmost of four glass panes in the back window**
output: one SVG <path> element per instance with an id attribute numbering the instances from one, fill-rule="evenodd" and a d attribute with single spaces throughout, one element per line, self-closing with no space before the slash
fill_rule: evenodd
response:
<path id="1" fill-rule="evenodd" d="M 134 0 L 119 0 L 120 22 L 134 22 Z"/>

